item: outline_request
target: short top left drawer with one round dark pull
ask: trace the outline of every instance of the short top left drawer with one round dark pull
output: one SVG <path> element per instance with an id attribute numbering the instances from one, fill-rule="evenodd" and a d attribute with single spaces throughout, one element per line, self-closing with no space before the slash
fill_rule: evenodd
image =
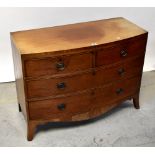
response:
<path id="1" fill-rule="evenodd" d="M 65 74 L 91 68 L 92 54 L 84 53 L 25 60 L 24 64 L 26 77 Z"/>

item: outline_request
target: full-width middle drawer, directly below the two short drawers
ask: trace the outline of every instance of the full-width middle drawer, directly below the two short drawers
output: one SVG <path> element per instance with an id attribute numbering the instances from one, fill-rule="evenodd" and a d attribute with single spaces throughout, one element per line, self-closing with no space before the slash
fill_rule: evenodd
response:
<path id="1" fill-rule="evenodd" d="M 61 78 L 27 81 L 27 96 L 30 99 L 48 97 L 97 87 L 115 80 L 140 75 L 142 66 L 143 57 L 138 57 L 108 68 L 99 68 L 95 75 L 88 72 Z"/>

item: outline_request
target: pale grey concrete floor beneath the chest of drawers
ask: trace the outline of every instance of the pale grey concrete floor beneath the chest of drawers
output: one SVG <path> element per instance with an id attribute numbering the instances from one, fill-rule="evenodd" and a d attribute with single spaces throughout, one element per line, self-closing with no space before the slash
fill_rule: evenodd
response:
<path id="1" fill-rule="evenodd" d="M 39 126 L 32 142 L 18 112 L 15 83 L 0 84 L 0 146 L 155 146 L 155 72 L 145 72 L 140 110 L 126 101 L 92 121 Z"/>

